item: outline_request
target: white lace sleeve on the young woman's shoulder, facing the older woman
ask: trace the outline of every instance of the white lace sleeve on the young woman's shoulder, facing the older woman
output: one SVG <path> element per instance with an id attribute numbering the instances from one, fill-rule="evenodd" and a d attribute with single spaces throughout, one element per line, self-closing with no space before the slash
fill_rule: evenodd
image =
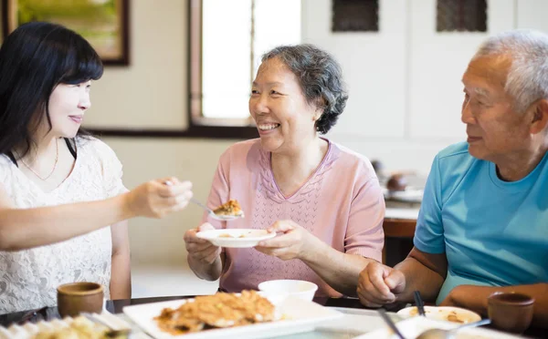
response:
<path id="1" fill-rule="evenodd" d="M 103 187 L 106 198 L 115 197 L 128 191 L 121 180 L 123 171 L 120 159 L 104 142 L 97 140 L 97 152 L 102 163 Z"/>

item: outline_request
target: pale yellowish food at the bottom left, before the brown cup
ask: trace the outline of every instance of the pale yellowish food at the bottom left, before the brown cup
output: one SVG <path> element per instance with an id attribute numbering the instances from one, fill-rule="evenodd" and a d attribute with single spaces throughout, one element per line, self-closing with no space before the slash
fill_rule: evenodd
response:
<path id="1" fill-rule="evenodd" d="M 111 338 L 107 335 L 109 329 L 101 324 L 91 322 L 89 319 L 79 316 L 67 326 L 51 328 L 38 332 L 33 339 L 105 339 Z M 127 335 L 123 335 L 127 337 Z M 120 337 L 119 337 L 120 338 Z"/>

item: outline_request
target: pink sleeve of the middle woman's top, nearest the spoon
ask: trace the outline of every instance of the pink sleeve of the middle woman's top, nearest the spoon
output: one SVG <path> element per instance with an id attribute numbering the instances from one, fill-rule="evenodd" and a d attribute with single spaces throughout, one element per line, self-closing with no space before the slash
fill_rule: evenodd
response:
<path id="1" fill-rule="evenodd" d="M 230 196 L 230 187 L 228 184 L 228 172 L 230 168 L 230 149 L 227 149 L 225 153 L 219 158 L 217 163 L 217 168 L 213 181 L 211 183 L 211 190 L 209 191 L 209 196 L 207 197 L 207 207 L 212 210 L 215 210 L 221 204 L 227 202 Z M 209 222 L 216 229 L 225 229 L 227 228 L 227 221 L 217 221 L 209 216 L 209 214 L 204 211 L 204 216 L 202 222 Z"/>

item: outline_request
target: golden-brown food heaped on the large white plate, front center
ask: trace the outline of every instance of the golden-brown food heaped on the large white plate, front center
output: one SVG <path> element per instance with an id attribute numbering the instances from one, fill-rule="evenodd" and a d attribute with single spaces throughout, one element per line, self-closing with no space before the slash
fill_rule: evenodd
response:
<path id="1" fill-rule="evenodd" d="M 275 307 L 256 291 L 201 295 L 177 309 L 164 308 L 154 318 L 164 332 L 187 334 L 275 320 Z"/>

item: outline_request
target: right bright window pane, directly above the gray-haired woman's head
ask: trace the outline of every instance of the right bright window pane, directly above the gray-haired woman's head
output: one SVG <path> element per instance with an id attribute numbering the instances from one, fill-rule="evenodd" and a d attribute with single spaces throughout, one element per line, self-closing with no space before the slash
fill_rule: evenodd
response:
<path id="1" fill-rule="evenodd" d="M 300 0 L 255 0 L 254 70 L 275 46 L 300 44 Z"/>

